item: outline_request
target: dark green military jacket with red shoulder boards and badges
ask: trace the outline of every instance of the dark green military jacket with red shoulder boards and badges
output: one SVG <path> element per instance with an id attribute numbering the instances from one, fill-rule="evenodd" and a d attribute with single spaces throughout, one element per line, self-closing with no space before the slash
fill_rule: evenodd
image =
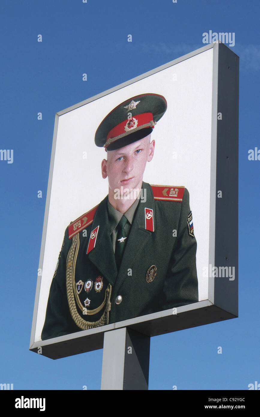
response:
<path id="1" fill-rule="evenodd" d="M 198 301 L 189 193 L 144 182 L 142 188 L 146 201 L 138 203 L 119 271 L 108 196 L 67 227 L 42 340 Z"/>

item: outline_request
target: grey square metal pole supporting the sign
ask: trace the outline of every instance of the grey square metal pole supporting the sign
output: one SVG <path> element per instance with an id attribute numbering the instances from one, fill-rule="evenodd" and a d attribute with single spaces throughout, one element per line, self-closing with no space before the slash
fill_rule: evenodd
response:
<path id="1" fill-rule="evenodd" d="M 126 327 L 105 332 L 101 389 L 148 389 L 149 359 L 149 336 Z"/>

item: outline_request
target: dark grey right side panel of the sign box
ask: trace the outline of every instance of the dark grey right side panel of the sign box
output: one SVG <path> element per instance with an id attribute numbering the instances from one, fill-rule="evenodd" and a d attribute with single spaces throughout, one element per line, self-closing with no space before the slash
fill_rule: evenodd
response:
<path id="1" fill-rule="evenodd" d="M 215 266 L 218 278 L 215 277 L 214 304 L 237 317 L 238 88 L 239 57 L 220 43 L 218 113 L 222 114 L 222 120 L 218 120 L 217 129 Z M 219 191 L 221 198 L 218 198 Z"/>

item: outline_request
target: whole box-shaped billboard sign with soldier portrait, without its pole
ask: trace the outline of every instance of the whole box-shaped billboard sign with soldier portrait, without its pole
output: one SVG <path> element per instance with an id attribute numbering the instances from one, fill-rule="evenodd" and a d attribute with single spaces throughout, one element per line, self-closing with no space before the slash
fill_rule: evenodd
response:
<path id="1" fill-rule="evenodd" d="M 238 56 L 207 45 L 56 114 L 30 349 L 238 315 Z"/>

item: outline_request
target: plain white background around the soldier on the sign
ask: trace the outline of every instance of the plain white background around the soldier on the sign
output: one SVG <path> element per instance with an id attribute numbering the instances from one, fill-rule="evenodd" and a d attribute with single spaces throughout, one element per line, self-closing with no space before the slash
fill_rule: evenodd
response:
<path id="1" fill-rule="evenodd" d="M 107 178 L 101 177 L 106 152 L 94 143 L 97 127 L 113 108 L 138 94 L 156 93 L 167 100 L 167 111 L 151 135 L 155 154 L 143 180 L 188 189 L 198 243 L 199 301 L 208 299 L 203 267 L 209 264 L 212 76 L 210 48 L 59 117 L 35 342 L 41 340 L 65 229 L 108 193 Z"/>

